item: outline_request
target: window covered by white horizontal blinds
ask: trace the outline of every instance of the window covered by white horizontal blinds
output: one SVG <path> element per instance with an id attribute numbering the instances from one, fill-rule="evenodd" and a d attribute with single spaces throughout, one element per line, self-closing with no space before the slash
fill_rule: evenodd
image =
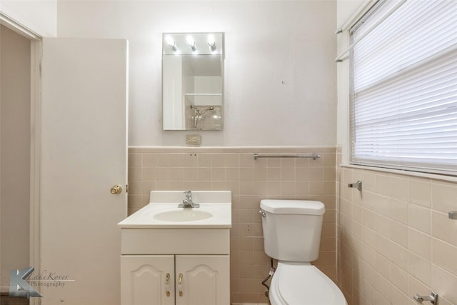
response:
<path id="1" fill-rule="evenodd" d="M 351 163 L 457 175 L 457 1 L 378 1 L 350 30 Z"/>

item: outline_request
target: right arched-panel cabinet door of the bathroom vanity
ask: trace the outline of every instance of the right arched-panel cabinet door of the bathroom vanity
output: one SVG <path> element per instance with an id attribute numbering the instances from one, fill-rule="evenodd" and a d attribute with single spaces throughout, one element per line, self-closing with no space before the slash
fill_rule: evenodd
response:
<path id="1" fill-rule="evenodd" d="M 228 255 L 176 256 L 175 276 L 176 305 L 230 304 Z"/>

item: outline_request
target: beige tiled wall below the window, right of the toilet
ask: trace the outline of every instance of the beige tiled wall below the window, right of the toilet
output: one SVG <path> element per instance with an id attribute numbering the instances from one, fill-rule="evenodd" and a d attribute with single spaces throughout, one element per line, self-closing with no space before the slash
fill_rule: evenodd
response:
<path id="1" fill-rule="evenodd" d="M 457 221 L 448 219 L 457 183 L 347 167 L 337 180 L 338 283 L 348 304 L 413 305 L 413 294 L 432 290 L 440 305 L 457 304 Z M 347 187 L 357 180 L 363 191 Z"/>

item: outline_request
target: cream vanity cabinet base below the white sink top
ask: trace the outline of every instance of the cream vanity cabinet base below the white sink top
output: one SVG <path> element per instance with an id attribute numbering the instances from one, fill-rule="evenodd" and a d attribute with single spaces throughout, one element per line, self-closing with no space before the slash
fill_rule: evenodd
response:
<path id="1" fill-rule="evenodd" d="M 230 229 L 121 229 L 122 305 L 229 305 Z"/>

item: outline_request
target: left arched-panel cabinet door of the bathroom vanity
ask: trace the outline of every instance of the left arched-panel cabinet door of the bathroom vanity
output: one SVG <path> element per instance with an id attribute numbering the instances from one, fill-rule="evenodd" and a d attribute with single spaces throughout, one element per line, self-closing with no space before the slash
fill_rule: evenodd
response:
<path id="1" fill-rule="evenodd" d="M 121 304 L 174 305 L 174 256 L 121 256 Z"/>

